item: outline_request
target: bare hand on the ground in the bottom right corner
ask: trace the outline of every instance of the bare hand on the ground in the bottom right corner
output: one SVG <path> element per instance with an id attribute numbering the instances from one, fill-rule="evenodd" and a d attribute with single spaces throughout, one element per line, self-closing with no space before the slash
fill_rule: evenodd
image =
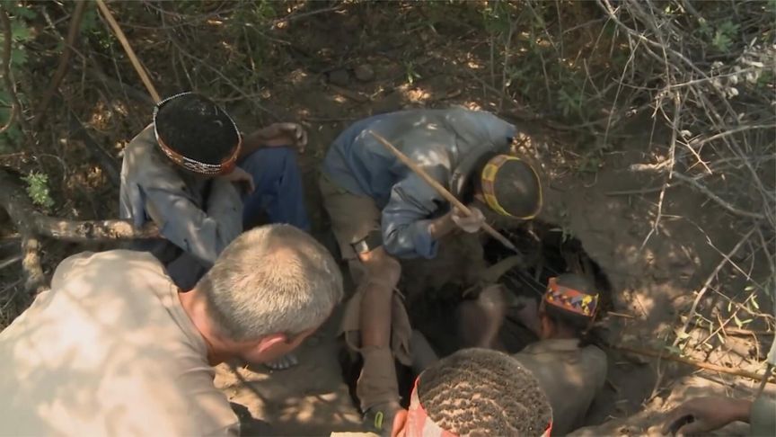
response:
<path id="1" fill-rule="evenodd" d="M 705 434 L 738 420 L 748 422 L 751 406 L 752 403 L 745 399 L 696 397 L 671 411 L 662 433 Z"/>

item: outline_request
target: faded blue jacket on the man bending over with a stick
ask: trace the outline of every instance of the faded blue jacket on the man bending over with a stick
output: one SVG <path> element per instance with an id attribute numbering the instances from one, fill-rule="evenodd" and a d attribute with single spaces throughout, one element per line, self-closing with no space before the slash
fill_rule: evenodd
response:
<path id="1" fill-rule="evenodd" d="M 401 258 L 436 256 L 428 225 L 449 205 L 368 130 L 388 139 L 445 187 L 466 156 L 507 153 L 516 133 L 515 126 L 489 112 L 454 108 L 375 115 L 334 140 L 323 173 L 340 188 L 375 200 L 382 210 L 385 250 Z"/>

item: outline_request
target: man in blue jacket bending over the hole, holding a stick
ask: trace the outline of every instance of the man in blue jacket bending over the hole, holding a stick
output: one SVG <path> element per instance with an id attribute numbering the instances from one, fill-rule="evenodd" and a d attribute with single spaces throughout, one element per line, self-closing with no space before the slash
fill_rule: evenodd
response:
<path id="1" fill-rule="evenodd" d="M 451 210 L 370 130 L 470 203 L 474 217 Z M 411 361 L 408 318 L 393 294 L 401 276 L 397 258 L 434 258 L 441 238 L 480 230 L 482 209 L 523 219 L 541 210 L 539 177 L 530 165 L 507 155 L 515 135 L 513 125 L 489 112 L 399 111 L 357 121 L 326 155 L 323 204 L 358 284 L 343 331 L 364 361 L 357 397 L 370 429 L 375 429 L 375 415 L 390 418 L 400 408 L 394 356 L 408 365 Z"/>

